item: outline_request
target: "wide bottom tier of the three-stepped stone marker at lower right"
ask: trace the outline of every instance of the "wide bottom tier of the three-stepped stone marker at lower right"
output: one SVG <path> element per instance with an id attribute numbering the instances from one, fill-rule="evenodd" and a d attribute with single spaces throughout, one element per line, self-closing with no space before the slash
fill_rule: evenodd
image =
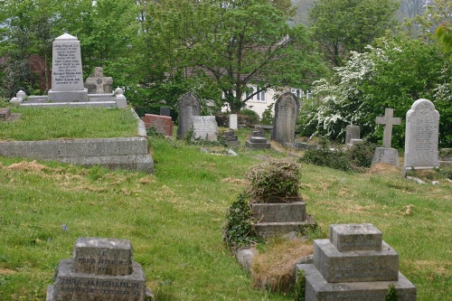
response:
<path id="1" fill-rule="evenodd" d="M 313 264 L 297 265 L 297 277 L 300 269 L 305 272 L 306 301 L 385 301 L 390 285 L 399 301 L 416 300 L 416 287 L 400 273 L 396 281 L 328 283 Z"/>

